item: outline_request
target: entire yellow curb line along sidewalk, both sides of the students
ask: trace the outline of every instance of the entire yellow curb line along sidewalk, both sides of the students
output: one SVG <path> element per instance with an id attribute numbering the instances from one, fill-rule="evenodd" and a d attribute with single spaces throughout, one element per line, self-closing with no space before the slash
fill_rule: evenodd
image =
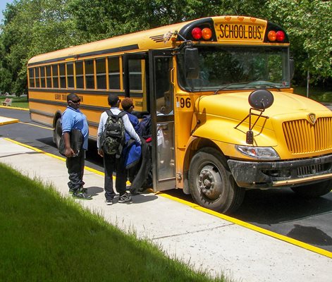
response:
<path id="1" fill-rule="evenodd" d="M 40 153 L 42 153 L 42 154 L 46 154 L 47 156 L 54 157 L 54 158 L 56 158 L 56 159 L 60 159 L 61 161 L 66 161 L 65 158 L 58 157 L 58 156 L 56 156 L 56 155 L 54 155 L 54 154 L 49 154 L 49 153 L 47 153 L 47 152 L 42 151 L 41 149 L 37 149 L 37 148 L 35 148 L 35 147 L 31 147 L 31 146 L 29 146 L 29 145 L 25 145 L 25 144 L 23 144 L 23 143 L 20 143 L 20 142 L 15 141 L 15 140 L 11 140 L 10 138 L 4 138 L 4 139 L 5 139 L 5 140 L 8 140 L 8 141 L 10 141 L 10 142 L 16 143 L 16 144 L 18 144 L 18 145 L 20 145 L 20 146 L 23 146 L 23 147 L 27 147 L 27 148 L 29 148 L 29 149 L 32 149 L 32 150 L 34 150 L 34 151 L 36 151 L 36 152 L 40 152 Z M 100 172 L 100 171 L 97 171 L 97 170 L 94 169 L 94 168 L 89 168 L 89 167 L 85 166 L 85 169 L 87 169 L 87 171 L 91 171 L 91 172 L 93 172 L 93 173 L 97 173 L 97 174 L 99 174 L 100 176 L 104 176 L 104 173 L 102 173 L 102 172 Z M 113 177 L 113 178 L 115 178 L 115 177 Z M 309 251 L 312 251 L 312 252 L 316 252 L 316 253 L 319 254 L 319 255 L 324 255 L 325 257 L 332 258 L 332 252 L 329 252 L 328 250 L 324 250 L 324 249 L 321 249 L 321 248 L 319 248 L 319 247 L 314 247 L 313 245 L 309 245 L 309 244 L 304 243 L 304 242 L 301 242 L 301 241 L 299 241 L 299 240 L 295 240 L 295 239 L 293 239 L 293 238 L 289 238 L 289 237 L 287 237 L 287 236 L 285 236 L 285 235 L 281 235 L 281 234 L 275 233 L 275 232 L 273 232 L 273 231 L 266 230 L 266 229 L 264 229 L 264 228 L 262 228 L 262 227 L 259 227 L 259 226 L 254 226 L 253 224 L 251 224 L 251 223 L 247 223 L 247 222 L 245 222 L 245 221 L 241 221 L 240 219 L 235 219 L 235 218 L 233 218 L 233 217 L 231 217 L 231 216 L 226 216 L 226 214 L 220 214 L 219 212 L 214 212 L 214 211 L 212 211 L 211 209 L 207 209 L 207 208 L 204 208 L 204 207 L 199 206 L 198 204 L 195 204 L 195 203 L 192 203 L 192 202 L 188 202 L 188 201 L 186 201 L 186 200 L 182 200 L 182 199 L 179 199 L 179 198 L 177 198 L 177 197 L 173 197 L 173 196 L 171 196 L 171 195 L 167 195 L 167 194 L 165 194 L 164 192 L 156 192 L 156 194 L 157 194 L 157 195 L 160 195 L 160 196 L 162 196 L 162 197 L 166 197 L 166 198 L 168 198 L 168 199 L 170 199 L 170 200 L 173 200 L 173 201 L 176 201 L 176 202 L 180 202 L 181 204 L 185 204 L 185 205 L 187 205 L 188 207 L 192 207 L 193 209 L 197 209 L 197 210 L 199 210 L 199 211 L 201 211 L 201 212 L 205 212 L 205 213 L 207 213 L 207 214 L 211 214 L 211 215 L 213 215 L 213 216 L 219 217 L 220 219 L 224 219 L 224 220 L 226 220 L 226 221 L 229 221 L 229 222 L 235 223 L 235 224 L 237 224 L 238 226 L 242 226 L 242 227 L 248 228 L 248 229 L 250 229 L 250 230 L 252 230 L 252 231 L 257 231 L 257 232 L 262 233 L 262 234 L 264 234 L 264 235 L 269 235 L 269 236 L 271 236 L 271 237 L 273 237 L 273 238 L 276 238 L 276 239 L 278 239 L 278 240 L 282 240 L 282 241 L 284 241 L 284 242 L 287 242 L 287 243 L 290 243 L 290 244 L 296 245 L 296 246 L 298 246 L 298 247 L 302 247 L 302 248 L 304 248 L 304 249 L 306 249 L 306 250 L 309 250 Z"/>

